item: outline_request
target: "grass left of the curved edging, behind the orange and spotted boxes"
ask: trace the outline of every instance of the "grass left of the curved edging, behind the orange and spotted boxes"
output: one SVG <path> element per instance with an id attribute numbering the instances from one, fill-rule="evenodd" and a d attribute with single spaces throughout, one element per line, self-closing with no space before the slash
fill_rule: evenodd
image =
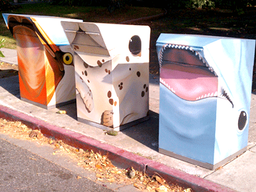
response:
<path id="1" fill-rule="evenodd" d="M 114 13 L 109 13 L 105 7 L 58 6 L 48 3 L 37 3 L 22 4 L 21 8 L 19 9 L 4 13 L 68 17 L 72 19 L 82 19 L 85 22 L 119 23 L 125 20 L 157 15 L 162 13 L 162 10 L 158 8 L 127 6 L 125 9 L 117 10 Z M 0 39 L 1 38 L 6 39 L 4 43 L 5 48 L 16 49 L 15 40 L 13 39 L 10 31 L 6 28 L 3 17 L 0 17 Z"/>

